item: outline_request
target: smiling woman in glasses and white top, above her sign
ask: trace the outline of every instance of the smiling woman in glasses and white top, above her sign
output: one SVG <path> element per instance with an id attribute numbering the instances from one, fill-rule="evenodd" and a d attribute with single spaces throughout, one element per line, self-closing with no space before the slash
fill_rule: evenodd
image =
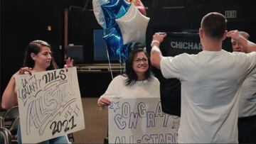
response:
<path id="1" fill-rule="evenodd" d="M 129 54 L 126 71 L 114 77 L 97 104 L 101 107 L 109 106 L 109 98 L 144 97 L 160 97 L 159 80 L 151 74 L 151 63 L 144 46 L 135 44 L 134 50 Z"/>

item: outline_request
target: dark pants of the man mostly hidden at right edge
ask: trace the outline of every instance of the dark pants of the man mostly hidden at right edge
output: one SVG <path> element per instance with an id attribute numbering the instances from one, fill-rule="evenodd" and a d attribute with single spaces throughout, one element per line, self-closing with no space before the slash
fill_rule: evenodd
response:
<path id="1" fill-rule="evenodd" d="M 256 116 L 238 118 L 238 142 L 256 143 Z"/>

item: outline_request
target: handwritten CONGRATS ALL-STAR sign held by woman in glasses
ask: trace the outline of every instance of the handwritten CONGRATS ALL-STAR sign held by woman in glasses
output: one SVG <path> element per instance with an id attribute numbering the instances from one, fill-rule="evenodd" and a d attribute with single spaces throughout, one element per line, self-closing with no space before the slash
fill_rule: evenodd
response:
<path id="1" fill-rule="evenodd" d="M 112 99 L 108 111 L 109 143 L 177 143 L 180 119 L 159 98 Z"/>

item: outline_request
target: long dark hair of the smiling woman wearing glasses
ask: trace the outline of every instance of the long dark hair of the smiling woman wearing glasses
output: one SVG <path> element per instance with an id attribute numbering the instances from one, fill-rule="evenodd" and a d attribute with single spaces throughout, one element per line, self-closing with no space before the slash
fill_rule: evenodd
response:
<path id="1" fill-rule="evenodd" d="M 138 52 L 144 52 L 144 54 L 146 55 L 147 60 L 148 60 L 149 69 L 146 70 L 146 72 L 145 72 L 146 79 L 149 80 L 152 77 L 151 62 L 149 60 L 149 55 L 146 52 L 146 48 L 144 45 L 141 45 L 140 43 L 136 43 L 134 45 L 132 52 L 129 53 L 129 57 L 126 61 L 126 65 L 125 65 L 126 71 L 124 72 L 124 74 L 122 74 L 124 77 L 127 77 L 127 80 L 125 82 L 127 86 L 135 84 L 135 82 L 137 82 L 137 80 L 138 80 L 137 74 L 136 74 L 136 72 L 134 72 L 134 70 L 132 68 L 132 65 L 134 62 L 134 57 L 137 55 Z"/>

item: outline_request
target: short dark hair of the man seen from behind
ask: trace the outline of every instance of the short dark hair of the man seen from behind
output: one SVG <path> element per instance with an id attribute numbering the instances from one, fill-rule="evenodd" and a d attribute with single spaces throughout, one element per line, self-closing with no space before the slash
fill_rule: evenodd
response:
<path id="1" fill-rule="evenodd" d="M 208 38 L 221 39 L 227 28 L 227 20 L 223 14 L 211 12 L 203 16 L 201 28 Z"/>

